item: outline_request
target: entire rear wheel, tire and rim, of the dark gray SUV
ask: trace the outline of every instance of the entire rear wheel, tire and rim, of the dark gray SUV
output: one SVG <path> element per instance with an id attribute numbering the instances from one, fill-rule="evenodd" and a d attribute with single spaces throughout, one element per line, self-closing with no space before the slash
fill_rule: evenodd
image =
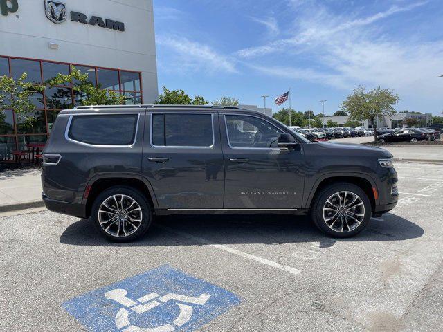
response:
<path id="1" fill-rule="evenodd" d="M 93 203 L 92 218 L 104 237 L 129 242 L 141 237 L 152 222 L 152 211 L 145 196 L 131 187 L 111 187 Z"/>

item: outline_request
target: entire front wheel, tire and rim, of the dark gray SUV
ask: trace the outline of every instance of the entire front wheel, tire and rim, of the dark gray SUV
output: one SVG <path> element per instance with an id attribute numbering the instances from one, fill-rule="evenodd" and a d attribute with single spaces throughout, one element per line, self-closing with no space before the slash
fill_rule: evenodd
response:
<path id="1" fill-rule="evenodd" d="M 335 183 L 318 194 L 311 210 L 314 224 L 332 237 L 352 237 L 366 228 L 372 214 L 368 195 L 352 183 Z"/>

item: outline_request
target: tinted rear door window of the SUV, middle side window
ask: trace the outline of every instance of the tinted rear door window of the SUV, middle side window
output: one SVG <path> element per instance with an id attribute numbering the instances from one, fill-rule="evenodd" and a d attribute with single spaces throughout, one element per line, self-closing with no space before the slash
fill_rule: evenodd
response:
<path id="1" fill-rule="evenodd" d="M 153 114 L 152 145 L 156 147 L 212 147 L 210 114 Z"/>

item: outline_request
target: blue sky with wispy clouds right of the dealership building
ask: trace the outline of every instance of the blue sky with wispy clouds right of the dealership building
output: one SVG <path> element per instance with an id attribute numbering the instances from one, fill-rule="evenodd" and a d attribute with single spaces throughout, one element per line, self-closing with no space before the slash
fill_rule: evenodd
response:
<path id="1" fill-rule="evenodd" d="M 443 111 L 443 0 L 154 0 L 159 86 L 334 113 L 355 86 Z M 287 106 L 287 104 L 284 104 Z"/>

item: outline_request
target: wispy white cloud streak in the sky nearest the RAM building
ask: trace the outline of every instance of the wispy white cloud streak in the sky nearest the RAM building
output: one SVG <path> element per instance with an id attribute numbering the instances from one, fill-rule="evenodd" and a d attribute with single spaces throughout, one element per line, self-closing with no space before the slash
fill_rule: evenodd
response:
<path id="1" fill-rule="evenodd" d="M 172 50 L 176 57 L 174 68 L 188 68 L 205 70 L 208 73 L 224 71 L 225 73 L 237 73 L 235 60 L 217 53 L 217 51 L 205 44 L 192 42 L 183 37 L 159 36 L 156 44 Z"/>

